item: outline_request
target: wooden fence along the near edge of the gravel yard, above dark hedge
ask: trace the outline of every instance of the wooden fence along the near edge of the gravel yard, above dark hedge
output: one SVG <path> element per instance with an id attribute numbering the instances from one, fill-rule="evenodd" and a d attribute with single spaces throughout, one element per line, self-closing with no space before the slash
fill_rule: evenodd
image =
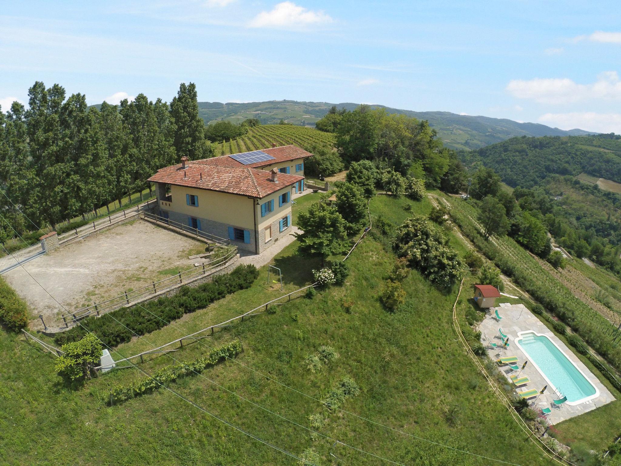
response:
<path id="1" fill-rule="evenodd" d="M 190 283 L 196 278 L 203 275 L 209 275 L 217 268 L 227 264 L 235 255 L 237 255 L 237 248 L 234 246 L 229 247 L 230 250 L 222 257 L 215 258 L 210 262 L 197 265 L 196 267 L 189 268 L 183 272 L 179 272 L 177 275 L 169 276 L 163 280 L 153 281 L 151 285 L 143 286 L 133 291 L 125 291 L 122 295 L 116 296 L 116 298 L 107 299 L 101 303 L 95 303 L 86 308 L 81 308 L 69 315 L 63 315 L 63 322 L 65 327 L 69 328 L 78 323 L 81 319 L 89 316 L 101 316 L 102 314 L 109 313 L 115 309 L 129 306 L 132 303 L 140 301 L 147 296 L 156 295 L 166 290 L 173 290 L 183 283 Z"/>

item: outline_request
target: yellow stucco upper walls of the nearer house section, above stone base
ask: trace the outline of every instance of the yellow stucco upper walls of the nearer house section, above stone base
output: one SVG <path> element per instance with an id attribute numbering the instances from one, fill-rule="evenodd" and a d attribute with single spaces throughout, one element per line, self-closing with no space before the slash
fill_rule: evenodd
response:
<path id="1" fill-rule="evenodd" d="M 278 207 L 278 196 L 283 193 L 291 193 L 291 186 L 283 186 L 283 189 L 270 194 L 263 199 L 249 199 L 247 196 L 237 194 L 219 193 L 217 191 L 199 190 L 196 188 L 186 188 L 185 186 L 170 187 L 172 201 L 169 206 L 163 206 L 165 210 L 179 212 L 181 214 L 209 219 L 235 227 L 245 228 L 253 231 L 255 229 L 255 217 L 253 216 L 253 206 L 256 209 L 256 221 L 259 228 L 266 227 L 276 219 L 291 214 L 291 195 L 289 202 L 282 207 Z M 198 207 L 188 206 L 186 194 L 198 196 Z M 274 211 L 261 217 L 261 204 L 274 199 Z"/>

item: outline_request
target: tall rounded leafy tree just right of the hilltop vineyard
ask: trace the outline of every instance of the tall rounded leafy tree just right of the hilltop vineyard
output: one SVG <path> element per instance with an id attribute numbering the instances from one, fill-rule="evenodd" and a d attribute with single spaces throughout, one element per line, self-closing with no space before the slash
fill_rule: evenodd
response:
<path id="1" fill-rule="evenodd" d="M 361 105 L 341 118 L 337 128 L 336 147 L 345 164 L 371 160 L 376 154 L 379 124 L 370 107 Z"/>

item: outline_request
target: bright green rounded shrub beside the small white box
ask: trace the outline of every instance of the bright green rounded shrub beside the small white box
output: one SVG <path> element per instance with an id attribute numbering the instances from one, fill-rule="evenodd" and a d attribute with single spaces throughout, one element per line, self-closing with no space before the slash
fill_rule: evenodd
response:
<path id="1" fill-rule="evenodd" d="M 91 372 L 101 360 L 101 342 L 93 333 L 83 339 L 61 347 L 62 356 L 58 357 L 54 368 L 58 375 L 69 380 L 91 378 Z"/>

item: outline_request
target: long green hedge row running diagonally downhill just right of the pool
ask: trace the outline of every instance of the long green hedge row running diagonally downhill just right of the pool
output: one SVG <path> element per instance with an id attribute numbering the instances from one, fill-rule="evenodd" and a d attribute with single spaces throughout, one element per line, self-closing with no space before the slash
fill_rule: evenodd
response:
<path id="1" fill-rule="evenodd" d="M 477 231 L 469 219 L 462 216 L 460 212 L 456 212 L 453 208 L 450 215 L 455 223 L 460 227 L 461 231 L 471 240 L 474 245 L 486 255 L 489 260 L 496 264 L 502 273 L 510 276 L 517 285 L 524 288 L 537 301 L 549 309 L 556 318 L 563 321 L 579 336 L 584 339 L 593 349 L 601 354 L 615 368 L 621 370 L 621 347 L 614 346 L 610 340 L 602 338 L 601 330 L 597 329 L 597 322 L 593 323 L 586 319 L 579 318 L 581 309 L 574 307 L 572 303 L 566 302 L 561 296 L 557 295 L 554 290 L 541 283 L 537 278 L 533 277 L 519 264 L 516 264 L 512 258 L 507 257 L 501 249 L 496 247 L 491 241 L 485 240 Z M 564 333 L 563 324 L 556 322 L 555 330 Z"/>

